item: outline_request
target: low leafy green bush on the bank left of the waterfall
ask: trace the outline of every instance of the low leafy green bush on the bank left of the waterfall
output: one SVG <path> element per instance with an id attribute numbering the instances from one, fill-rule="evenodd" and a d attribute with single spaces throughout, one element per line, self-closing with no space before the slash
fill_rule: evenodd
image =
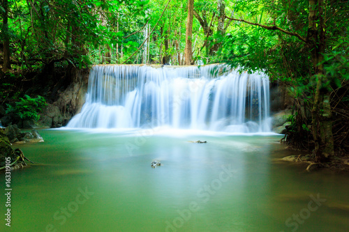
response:
<path id="1" fill-rule="evenodd" d="M 6 114 L 14 113 L 22 120 L 33 119 L 38 121 L 40 119 L 39 112 L 45 107 L 45 98 L 38 95 L 37 98 L 31 98 L 29 95 L 24 95 L 24 98 L 20 98 L 20 102 L 15 102 L 15 106 L 7 105 Z"/>

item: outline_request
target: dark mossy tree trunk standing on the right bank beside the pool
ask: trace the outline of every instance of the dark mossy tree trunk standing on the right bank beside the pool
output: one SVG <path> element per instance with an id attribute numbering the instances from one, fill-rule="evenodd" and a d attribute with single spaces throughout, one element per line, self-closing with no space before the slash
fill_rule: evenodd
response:
<path id="1" fill-rule="evenodd" d="M 308 40 L 311 45 L 311 59 L 317 79 L 311 110 L 312 133 L 315 142 L 314 153 L 319 161 L 334 155 L 330 93 L 322 89 L 322 85 L 328 81 L 322 65 L 325 53 L 325 23 L 322 7 L 323 0 L 309 0 Z"/>

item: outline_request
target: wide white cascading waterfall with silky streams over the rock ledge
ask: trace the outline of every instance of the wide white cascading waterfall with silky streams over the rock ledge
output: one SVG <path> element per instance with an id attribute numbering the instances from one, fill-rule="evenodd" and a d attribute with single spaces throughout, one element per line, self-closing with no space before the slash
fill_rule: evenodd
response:
<path id="1" fill-rule="evenodd" d="M 86 102 L 67 127 L 270 132 L 269 79 L 226 68 L 96 65 Z"/>

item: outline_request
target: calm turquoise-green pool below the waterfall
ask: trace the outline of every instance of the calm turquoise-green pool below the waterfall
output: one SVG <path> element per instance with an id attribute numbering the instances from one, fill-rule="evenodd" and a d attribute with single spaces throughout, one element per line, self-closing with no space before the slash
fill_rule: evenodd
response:
<path id="1" fill-rule="evenodd" d="M 349 228 L 348 175 L 277 162 L 299 154 L 279 135 L 199 133 L 41 130 L 45 142 L 16 146 L 41 164 L 12 171 L 11 227 L 1 219 L 0 231 Z"/>

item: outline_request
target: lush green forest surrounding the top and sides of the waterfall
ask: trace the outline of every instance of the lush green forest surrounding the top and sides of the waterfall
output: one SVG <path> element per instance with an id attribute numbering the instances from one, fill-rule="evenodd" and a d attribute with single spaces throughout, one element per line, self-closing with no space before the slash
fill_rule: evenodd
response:
<path id="1" fill-rule="evenodd" d="M 37 119 L 17 103 L 53 102 L 72 68 L 228 63 L 287 87 L 292 148 L 320 162 L 348 154 L 348 1 L 2 0 L 0 11 L 3 116 Z"/>

